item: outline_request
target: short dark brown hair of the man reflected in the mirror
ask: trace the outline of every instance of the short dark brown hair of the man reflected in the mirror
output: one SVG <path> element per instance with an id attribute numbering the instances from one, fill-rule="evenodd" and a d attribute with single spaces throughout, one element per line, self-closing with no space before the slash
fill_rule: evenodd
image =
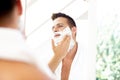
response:
<path id="1" fill-rule="evenodd" d="M 53 13 L 51 18 L 52 18 L 52 20 L 55 20 L 56 18 L 59 18 L 59 17 L 66 18 L 68 20 L 68 24 L 70 25 L 70 28 L 73 27 L 73 26 L 76 27 L 76 23 L 73 20 L 73 18 L 70 17 L 69 15 L 64 14 L 64 13 L 60 13 L 60 12 L 59 13 Z"/>

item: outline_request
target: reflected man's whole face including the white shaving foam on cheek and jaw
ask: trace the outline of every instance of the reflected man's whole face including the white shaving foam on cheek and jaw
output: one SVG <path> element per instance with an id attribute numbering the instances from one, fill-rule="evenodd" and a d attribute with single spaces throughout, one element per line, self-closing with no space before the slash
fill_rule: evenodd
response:
<path id="1" fill-rule="evenodd" d="M 72 30 L 70 29 L 67 19 L 63 17 L 59 17 L 53 21 L 53 32 L 54 32 L 54 42 L 55 45 L 57 46 L 64 38 L 65 35 L 70 35 L 71 40 L 70 40 L 70 45 L 68 48 L 68 51 L 73 48 L 75 41 L 73 40 L 72 37 Z"/>

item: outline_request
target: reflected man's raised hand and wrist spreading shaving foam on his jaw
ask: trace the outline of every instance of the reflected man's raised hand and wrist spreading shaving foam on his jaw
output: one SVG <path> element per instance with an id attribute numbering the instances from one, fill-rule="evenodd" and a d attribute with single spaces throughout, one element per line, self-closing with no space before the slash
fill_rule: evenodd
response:
<path id="1" fill-rule="evenodd" d="M 70 44 L 70 36 L 65 36 L 61 43 L 55 46 L 54 41 L 52 40 L 52 49 L 54 56 L 49 62 L 49 67 L 54 72 L 58 67 L 59 63 L 66 56 Z"/>

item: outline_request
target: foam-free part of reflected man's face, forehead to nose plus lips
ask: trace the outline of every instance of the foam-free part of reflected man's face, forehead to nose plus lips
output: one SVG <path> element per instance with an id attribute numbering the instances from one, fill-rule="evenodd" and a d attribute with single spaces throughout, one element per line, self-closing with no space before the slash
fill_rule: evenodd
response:
<path id="1" fill-rule="evenodd" d="M 66 18 L 63 18 L 63 17 L 59 17 L 59 18 L 56 18 L 54 21 L 53 21 L 53 32 L 60 32 L 60 31 L 63 31 L 66 27 L 68 27 L 68 22 L 67 22 L 67 19 Z M 57 38 L 61 36 L 59 33 L 58 34 L 54 34 L 54 37 Z"/>

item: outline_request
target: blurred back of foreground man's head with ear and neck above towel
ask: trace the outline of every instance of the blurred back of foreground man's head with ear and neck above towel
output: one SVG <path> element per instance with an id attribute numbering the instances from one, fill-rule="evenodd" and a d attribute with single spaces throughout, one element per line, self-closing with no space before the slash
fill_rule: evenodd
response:
<path id="1" fill-rule="evenodd" d="M 0 27 L 17 29 L 21 15 L 21 0 L 0 0 Z"/>

